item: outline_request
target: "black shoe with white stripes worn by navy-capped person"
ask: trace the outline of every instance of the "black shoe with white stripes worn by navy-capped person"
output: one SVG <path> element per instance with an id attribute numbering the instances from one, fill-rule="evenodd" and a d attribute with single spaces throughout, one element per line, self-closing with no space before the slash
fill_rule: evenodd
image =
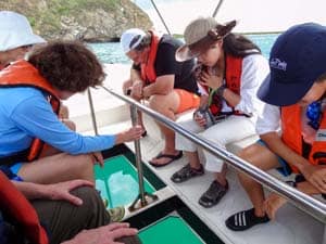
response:
<path id="1" fill-rule="evenodd" d="M 254 215 L 254 208 L 251 208 L 231 215 L 225 221 L 225 226 L 233 231 L 244 231 L 249 228 L 252 228 L 255 224 L 265 223 L 268 221 L 269 218 L 266 214 L 263 217 L 258 217 Z"/>

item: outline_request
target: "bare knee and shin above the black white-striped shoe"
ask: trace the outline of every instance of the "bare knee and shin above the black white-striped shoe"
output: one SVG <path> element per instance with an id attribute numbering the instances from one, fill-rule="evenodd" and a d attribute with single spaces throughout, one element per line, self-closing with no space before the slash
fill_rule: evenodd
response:
<path id="1" fill-rule="evenodd" d="M 239 153 L 239 156 L 264 171 L 279 167 L 275 154 L 260 144 L 252 144 L 246 147 Z M 263 217 L 265 215 L 265 197 L 262 185 L 246 174 L 239 172 L 238 177 L 255 209 L 255 216 Z"/>

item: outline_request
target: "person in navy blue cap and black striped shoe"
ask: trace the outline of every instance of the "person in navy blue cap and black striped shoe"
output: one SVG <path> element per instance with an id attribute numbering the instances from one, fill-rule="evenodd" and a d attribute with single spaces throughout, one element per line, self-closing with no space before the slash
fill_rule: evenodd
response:
<path id="1" fill-rule="evenodd" d="M 291 184 L 309 195 L 326 193 L 325 61 L 326 26 L 301 24 L 277 38 L 271 51 L 271 75 L 258 92 L 272 105 L 259 119 L 260 141 L 240 153 L 262 170 L 281 167 L 286 175 L 302 174 Z M 286 200 L 276 193 L 265 198 L 260 183 L 242 172 L 238 176 L 253 208 L 230 216 L 226 226 L 243 231 L 273 219 Z"/>

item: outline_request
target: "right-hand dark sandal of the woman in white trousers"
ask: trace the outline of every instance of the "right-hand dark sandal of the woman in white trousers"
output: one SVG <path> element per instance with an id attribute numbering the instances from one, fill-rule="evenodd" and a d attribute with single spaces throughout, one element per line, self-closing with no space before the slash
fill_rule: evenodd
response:
<path id="1" fill-rule="evenodd" d="M 225 195 L 225 193 L 228 190 L 228 182 L 226 182 L 226 185 L 222 185 L 220 182 L 214 180 L 209 190 L 205 191 L 201 197 L 199 198 L 198 203 L 203 207 L 213 207 L 215 206 L 222 197 Z"/>

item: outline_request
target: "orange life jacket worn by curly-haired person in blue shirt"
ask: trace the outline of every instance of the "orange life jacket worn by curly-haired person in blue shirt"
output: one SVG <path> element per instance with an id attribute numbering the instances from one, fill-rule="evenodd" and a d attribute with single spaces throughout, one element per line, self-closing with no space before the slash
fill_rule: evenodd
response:
<path id="1" fill-rule="evenodd" d="M 26 61 L 17 61 L 0 73 L 0 87 L 34 87 L 46 91 L 48 101 L 51 104 L 53 112 L 59 114 L 60 100 L 53 87 L 39 74 L 39 72 Z M 43 147 L 43 142 L 39 139 L 34 139 L 29 147 L 27 160 L 36 159 Z"/>

